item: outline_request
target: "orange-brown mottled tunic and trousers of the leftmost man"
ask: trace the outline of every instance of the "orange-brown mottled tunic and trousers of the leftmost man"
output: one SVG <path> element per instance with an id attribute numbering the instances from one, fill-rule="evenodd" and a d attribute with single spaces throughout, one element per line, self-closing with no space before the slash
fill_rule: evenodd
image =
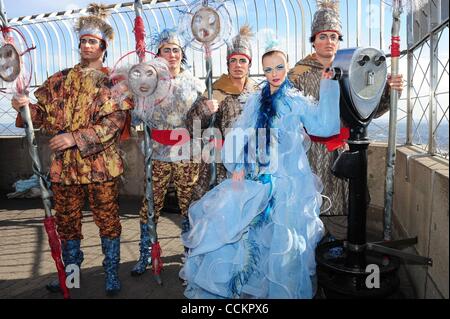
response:
<path id="1" fill-rule="evenodd" d="M 58 72 L 35 92 L 33 123 L 44 134 L 71 132 L 76 146 L 52 154 L 50 181 L 56 222 L 62 240 L 81 239 L 84 187 L 101 236 L 120 237 L 118 180 L 123 162 L 117 142 L 129 103 L 111 99 L 108 69 L 80 64 Z M 20 115 L 18 126 L 22 123 Z"/>

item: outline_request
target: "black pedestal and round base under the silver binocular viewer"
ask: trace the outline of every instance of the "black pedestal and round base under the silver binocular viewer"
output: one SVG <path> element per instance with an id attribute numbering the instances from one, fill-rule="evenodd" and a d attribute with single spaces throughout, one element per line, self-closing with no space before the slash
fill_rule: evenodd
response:
<path id="1" fill-rule="evenodd" d="M 430 258 L 397 250 L 417 243 L 417 238 L 367 243 L 366 215 L 367 149 L 366 128 L 350 130 L 350 149 L 337 158 L 332 172 L 349 180 L 348 229 L 346 241 L 320 244 L 316 249 L 319 286 L 327 298 L 387 298 L 399 287 L 398 269 L 405 261 L 429 265 Z"/>

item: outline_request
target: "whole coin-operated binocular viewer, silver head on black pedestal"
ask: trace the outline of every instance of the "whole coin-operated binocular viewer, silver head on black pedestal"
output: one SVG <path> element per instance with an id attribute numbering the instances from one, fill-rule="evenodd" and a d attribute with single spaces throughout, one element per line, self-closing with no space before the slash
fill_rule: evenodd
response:
<path id="1" fill-rule="evenodd" d="M 341 88 L 340 113 L 350 129 L 349 150 L 334 162 L 332 173 L 349 180 L 347 240 L 331 241 L 317 247 L 319 285 L 336 298 L 380 298 L 393 294 L 398 286 L 400 258 L 431 264 L 428 258 L 393 249 L 417 243 L 417 238 L 367 243 L 367 126 L 377 113 L 386 87 L 386 56 L 374 48 L 339 50 L 332 65 Z M 400 257 L 400 258 L 399 258 Z M 368 275 L 379 274 L 379 289 L 368 287 Z"/>

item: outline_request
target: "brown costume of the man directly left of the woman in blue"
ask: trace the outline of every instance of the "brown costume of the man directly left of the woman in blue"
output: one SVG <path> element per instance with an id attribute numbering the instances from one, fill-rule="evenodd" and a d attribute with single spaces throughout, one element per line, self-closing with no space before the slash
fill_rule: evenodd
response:
<path id="1" fill-rule="evenodd" d="M 234 121 L 242 112 L 242 107 L 246 102 L 249 93 L 255 91 L 256 82 L 248 78 L 242 92 L 233 85 L 228 75 L 223 74 L 217 81 L 213 83 L 213 99 L 219 103 L 216 121 L 214 127 L 218 128 L 225 138 L 227 128 L 231 128 Z M 211 121 L 212 113 L 205 104 L 207 97 L 204 94 L 189 110 L 187 114 L 187 127 L 192 136 L 194 120 L 201 121 L 201 128 L 206 129 Z M 217 184 L 227 178 L 227 171 L 223 164 L 217 163 Z M 202 161 L 200 163 L 200 174 L 198 183 L 194 186 L 192 201 L 200 199 L 209 190 L 209 180 L 211 172 L 209 164 Z"/>

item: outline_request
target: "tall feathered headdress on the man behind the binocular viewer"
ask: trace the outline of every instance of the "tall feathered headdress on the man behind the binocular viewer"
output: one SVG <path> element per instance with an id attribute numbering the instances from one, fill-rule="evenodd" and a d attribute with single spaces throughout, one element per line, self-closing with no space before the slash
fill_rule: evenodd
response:
<path id="1" fill-rule="evenodd" d="M 339 0 L 317 0 L 317 11 L 311 24 L 311 36 L 324 31 L 335 31 L 342 35 Z"/>

